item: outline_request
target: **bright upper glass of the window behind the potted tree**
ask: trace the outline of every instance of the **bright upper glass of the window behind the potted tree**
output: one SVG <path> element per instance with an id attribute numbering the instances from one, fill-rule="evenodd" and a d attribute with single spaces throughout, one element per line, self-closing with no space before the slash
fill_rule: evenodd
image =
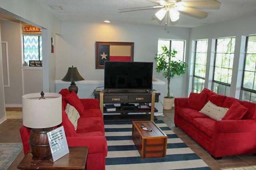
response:
<path id="1" fill-rule="evenodd" d="M 176 50 L 178 53 L 176 54 L 176 57 L 174 58 L 175 61 L 184 61 L 184 46 L 185 46 L 185 41 L 182 40 L 164 40 L 164 39 L 159 39 L 158 40 L 158 54 L 161 54 L 162 47 L 166 46 L 168 50 Z"/>

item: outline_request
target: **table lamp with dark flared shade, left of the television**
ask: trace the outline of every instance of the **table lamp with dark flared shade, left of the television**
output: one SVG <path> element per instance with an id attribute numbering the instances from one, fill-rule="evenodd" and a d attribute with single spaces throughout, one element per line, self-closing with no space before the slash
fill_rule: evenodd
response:
<path id="1" fill-rule="evenodd" d="M 82 78 L 82 76 L 79 74 L 78 70 L 76 67 L 68 67 L 68 72 L 66 74 L 66 76 L 64 76 L 64 78 L 62 78 L 62 81 L 65 82 L 71 82 L 70 86 L 68 87 L 68 90 L 70 91 L 70 93 L 72 91 L 75 91 L 76 94 L 78 92 L 78 86 L 76 86 L 76 81 L 81 81 L 84 80 L 84 78 Z"/>

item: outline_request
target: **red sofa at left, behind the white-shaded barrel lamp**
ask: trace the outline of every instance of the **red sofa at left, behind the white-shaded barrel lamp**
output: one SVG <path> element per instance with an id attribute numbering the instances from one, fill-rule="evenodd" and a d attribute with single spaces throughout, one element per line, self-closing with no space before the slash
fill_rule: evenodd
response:
<path id="1" fill-rule="evenodd" d="M 60 126 L 64 127 L 68 146 L 89 147 L 86 162 L 87 170 L 105 170 L 105 157 L 107 156 L 108 147 L 98 100 L 79 99 L 74 95 L 74 92 L 71 95 L 67 89 L 61 90 L 60 94 L 62 94 L 62 124 Z M 64 110 L 67 103 L 76 107 L 80 114 L 76 131 Z M 26 154 L 30 150 L 28 143 L 30 129 L 22 126 L 20 135 L 24 154 Z"/>

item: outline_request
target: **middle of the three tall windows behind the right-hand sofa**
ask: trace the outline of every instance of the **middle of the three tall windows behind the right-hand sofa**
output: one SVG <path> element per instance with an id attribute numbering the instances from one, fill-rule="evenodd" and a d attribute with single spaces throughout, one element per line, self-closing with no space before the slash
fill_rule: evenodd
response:
<path id="1" fill-rule="evenodd" d="M 235 49 L 235 37 L 216 40 L 214 78 L 212 90 L 229 96 Z"/>

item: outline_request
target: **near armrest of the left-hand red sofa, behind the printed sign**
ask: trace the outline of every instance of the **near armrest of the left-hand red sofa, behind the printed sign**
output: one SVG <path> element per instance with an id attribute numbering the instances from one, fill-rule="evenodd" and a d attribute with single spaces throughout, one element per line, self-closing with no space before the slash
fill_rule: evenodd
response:
<path id="1" fill-rule="evenodd" d="M 66 137 L 66 139 L 69 147 L 89 147 L 88 153 L 105 153 L 108 151 L 104 136 Z"/>

